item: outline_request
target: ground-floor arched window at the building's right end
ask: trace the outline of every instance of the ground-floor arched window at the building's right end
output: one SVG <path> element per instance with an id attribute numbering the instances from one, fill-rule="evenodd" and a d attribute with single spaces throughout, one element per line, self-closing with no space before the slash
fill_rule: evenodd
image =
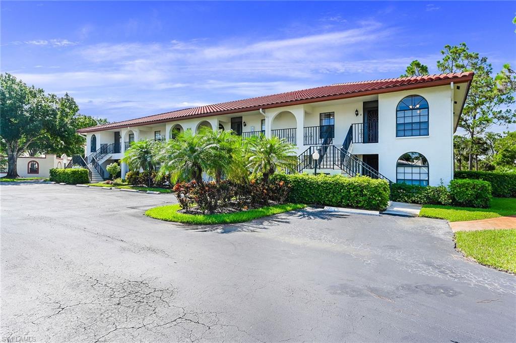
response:
<path id="1" fill-rule="evenodd" d="M 396 163 L 396 182 L 428 186 L 428 160 L 419 152 L 407 152 Z"/>

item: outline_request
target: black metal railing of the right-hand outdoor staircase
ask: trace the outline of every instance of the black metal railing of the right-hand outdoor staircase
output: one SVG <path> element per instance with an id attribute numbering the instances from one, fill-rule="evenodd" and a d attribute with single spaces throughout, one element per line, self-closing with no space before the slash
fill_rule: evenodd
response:
<path id="1" fill-rule="evenodd" d="M 315 151 L 319 153 L 317 160 L 314 160 L 312 157 Z M 301 173 L 304 169 L 314 169 L 316 163 L 317 168 L 332 169 L 336 166 L 344 170 L 349 176 L 365 175 L 373 179 L 382 179 L 392 183 L 391 180 L 372 166 L 359 160 L 347 150 L 337 148 L 334 145 L 314 145 L 304 150 L 298 156 L 297 171 Z"/>

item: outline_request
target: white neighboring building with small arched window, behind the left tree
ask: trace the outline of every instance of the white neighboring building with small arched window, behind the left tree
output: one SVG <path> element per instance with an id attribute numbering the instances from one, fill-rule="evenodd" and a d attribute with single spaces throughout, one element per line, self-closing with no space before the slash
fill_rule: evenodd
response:
<path id="1" fill-rule="evenodd" d="M 64 168 L 71 158 L 68 158 L 66 163 L 52 153 L 47 153 L 43 157 L 20 156 L 16 162 L 18 175 L 22 178 L 48 178 L 50 177 L 50 169 Z M 6 173 L 0 173 L 0 176 L 5 176 Z"/>

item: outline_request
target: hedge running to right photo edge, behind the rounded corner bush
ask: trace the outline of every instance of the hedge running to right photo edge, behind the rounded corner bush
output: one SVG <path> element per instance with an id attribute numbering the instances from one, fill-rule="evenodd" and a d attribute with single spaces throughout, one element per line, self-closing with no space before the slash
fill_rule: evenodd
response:
<path id="1" fill-rule="evenodd" d="M 455 172 L 455 178 L 489 181 L 493 190 L 493 196 L 503 198 L 516 197 L 516 173 L 461 170 Z"/>

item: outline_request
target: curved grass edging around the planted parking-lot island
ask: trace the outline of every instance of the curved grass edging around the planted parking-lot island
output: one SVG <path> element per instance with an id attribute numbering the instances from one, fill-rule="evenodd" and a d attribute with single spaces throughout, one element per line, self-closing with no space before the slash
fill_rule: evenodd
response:
<path id="1" fill-rule="evenodd" d="M 226 214 L 185 214 L 178 213 L 181 206 L 174 204 L 152 208 L 147 210 L 145 215 L 160 220 L 183 222 L 185 224 L 231 224 L 298 210 L 305 206 L 299 203 L 286 203 Z"/>

